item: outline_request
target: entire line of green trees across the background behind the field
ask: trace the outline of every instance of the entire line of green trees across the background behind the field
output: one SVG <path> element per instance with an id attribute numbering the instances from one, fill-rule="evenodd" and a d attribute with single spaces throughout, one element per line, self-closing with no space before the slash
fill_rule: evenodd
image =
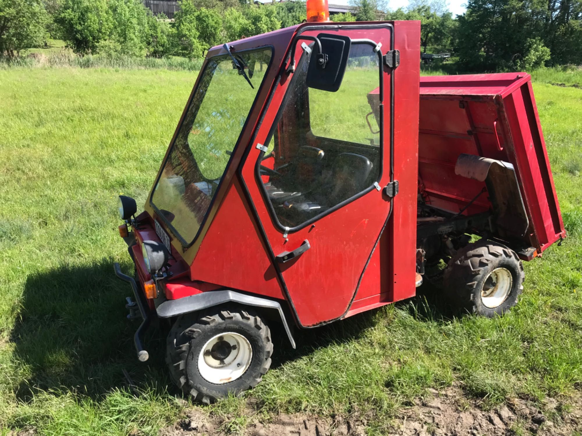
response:
<path id="1" fill-rule="evenodd" d="M 303 1 L 180 0 L 174 20 L 141 0 L 0 0 L 0 56 L 14 57 L 48 38 L 79 55 L 204 56 L 225 41 L 301 23 Z M 335 22 L 420 20 L 423 52 L 452 52 L 466 71 L 533 69 L 582 63 L 582 0 L 468 0 L 453 17 L 445 0 L 352 0 L 355 13 Z"/>

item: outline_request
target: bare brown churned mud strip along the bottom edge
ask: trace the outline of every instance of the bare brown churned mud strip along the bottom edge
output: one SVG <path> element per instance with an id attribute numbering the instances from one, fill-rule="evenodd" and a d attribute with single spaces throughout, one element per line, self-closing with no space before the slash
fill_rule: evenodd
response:
<path id="1" fill-rule="evenodd" d="M 349 417 L 317 417 L 305 414 L 281 414 L 272 420 L 258 419 L 249 408 L 246 424 L 233 428 L 236 421 L 208 416 L 204 409 L 193 409 L 175 426 L 165 428 L 160 436 L 226 435 L 247 436 L 364 436 L 370 424 L 386 430 L 389 436 L 466 436 L 537 434 L 566 436 L 582 431 L 582 399 L 580 393 L 568 401 L 547 399 L 538 408 L 533 402 L 510 399 L 493 410 L 482 410 L 464 397 L 460 389 L 431 391 L 423 400 L 403 408 L 397 416 L 374 414 Z"/>

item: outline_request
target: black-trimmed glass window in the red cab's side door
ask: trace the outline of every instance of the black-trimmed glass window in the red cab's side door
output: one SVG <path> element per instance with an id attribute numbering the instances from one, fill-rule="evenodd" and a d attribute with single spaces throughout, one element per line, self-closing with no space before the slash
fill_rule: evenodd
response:
<path id="1" fill-rule="evenodd" d="M 281 227 L 301 227 L 367 192 L 381 175 L 381 57 L 352 44 L 336 92 L 306 86 L 303 53 L 257 170 Z"/>

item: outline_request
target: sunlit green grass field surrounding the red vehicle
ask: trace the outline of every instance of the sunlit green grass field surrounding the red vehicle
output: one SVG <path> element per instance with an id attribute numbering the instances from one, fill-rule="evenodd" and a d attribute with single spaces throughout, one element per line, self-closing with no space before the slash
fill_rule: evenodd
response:
<path id="1" fill-rule="evenodd" d="M 461 387 L 495 408 L 516 396 L 582 388 L 581 72 L 534 78 L 542 127 L 570 237 L 526 265 L 519 305 L 499 319 L 450 317 L 438 294 L 275 339 L 274 364 L 246 398 L 205 412 L 242 432 L 244 401 L 329 416 L 374 410 L 383 434 L 427 389 Z M 0 434 L 157 434 L 191 407 L 166 376 L 164 338 L 147 364 L 125 319 L 130 270 L 116 196 L 145 201 L 196 79 L 187 71 L 0 70 Z M 123 371 L 129 373 L 130 385 Z M 517 430 L 516 430 L 517 431 Z"/>

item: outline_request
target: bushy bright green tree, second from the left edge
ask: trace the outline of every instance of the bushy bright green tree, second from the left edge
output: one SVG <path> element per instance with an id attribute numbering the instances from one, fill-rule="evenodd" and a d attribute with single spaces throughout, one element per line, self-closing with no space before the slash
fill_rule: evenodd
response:
<path id="1" fill-rule="evenodd" d="M 97 51 L 99 42 L 106 40 L 113 29 L 107 0 L 64 0 L 55 22 L 76 53 Z"/>

